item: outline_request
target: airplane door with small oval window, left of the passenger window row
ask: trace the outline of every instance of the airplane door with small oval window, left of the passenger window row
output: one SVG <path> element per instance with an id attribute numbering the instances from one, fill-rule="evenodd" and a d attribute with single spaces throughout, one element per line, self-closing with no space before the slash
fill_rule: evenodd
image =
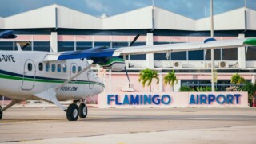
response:
<path id="1" fill-rule="evenodd" d="M 26 60 L 24 64 L 22 90 L 31 90 L 34 88 L 35 64 L 33 60 Z"/>

